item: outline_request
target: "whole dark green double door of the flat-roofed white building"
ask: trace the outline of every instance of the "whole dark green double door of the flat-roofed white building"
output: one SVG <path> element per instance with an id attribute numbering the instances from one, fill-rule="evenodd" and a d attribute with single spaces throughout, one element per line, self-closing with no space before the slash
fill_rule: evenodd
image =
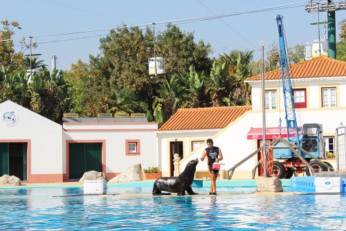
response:
<path id="1" fill-rule="evenodd" d="M 69 178 L 80 179 L 91 170 L 102 172 L 102 143 L 70 143 Z"/>

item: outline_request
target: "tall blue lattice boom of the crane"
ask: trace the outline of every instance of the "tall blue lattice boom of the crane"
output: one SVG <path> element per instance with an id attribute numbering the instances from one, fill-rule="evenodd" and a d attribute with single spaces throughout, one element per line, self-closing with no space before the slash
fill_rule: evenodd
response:
<path id="1" fill-rule="evenodd" d="M 279 56 L 282 77 L 282 91 L 284 93 L 284 111 L 286 117 L 287 137 L 288 139 L 300 146 L 299 131 L 297 119 L 295 117 L 294 98 L 292 92 L 291 78 L 289 76 L 289 64 L 287 62 L 286 45 L 284 37 L 284 27 L 282 24 L 282 15 L 276 15 L 277 29 L 279 30 Z M 281 129 L 281 128 L 280 128 Z M 292 130 L 295 136 L 291 137 Z"/>

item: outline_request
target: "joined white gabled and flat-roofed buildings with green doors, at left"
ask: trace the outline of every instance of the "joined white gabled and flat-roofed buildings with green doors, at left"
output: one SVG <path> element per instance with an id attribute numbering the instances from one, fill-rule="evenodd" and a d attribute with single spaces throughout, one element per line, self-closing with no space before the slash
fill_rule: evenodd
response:
<path id="1" fill-rule="evenodd" d="M 63 182 L 90 170 L 113 178 L 137 163 L 158 166 L 158 126 L 146 118 L 64 118 L 62 126 L 10 100 L 0 115 L 0 176 Z"/>

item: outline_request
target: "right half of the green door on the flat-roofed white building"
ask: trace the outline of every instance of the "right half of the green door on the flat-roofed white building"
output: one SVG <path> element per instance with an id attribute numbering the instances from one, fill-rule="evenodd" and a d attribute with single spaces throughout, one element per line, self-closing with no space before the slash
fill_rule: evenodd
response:
<path id="1" fill-rule="evenodd" d="M 102 143 L 85 143 L 85 170 L 102 172 Z"/>

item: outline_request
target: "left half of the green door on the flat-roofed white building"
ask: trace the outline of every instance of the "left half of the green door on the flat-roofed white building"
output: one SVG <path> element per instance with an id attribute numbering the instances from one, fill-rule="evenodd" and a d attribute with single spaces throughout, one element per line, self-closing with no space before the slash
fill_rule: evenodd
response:
<path id="1" fill-rule="evenodd" d="M 69 178 L 82 178 L 85 172 L 84 143 L 69 144 Z"/>

